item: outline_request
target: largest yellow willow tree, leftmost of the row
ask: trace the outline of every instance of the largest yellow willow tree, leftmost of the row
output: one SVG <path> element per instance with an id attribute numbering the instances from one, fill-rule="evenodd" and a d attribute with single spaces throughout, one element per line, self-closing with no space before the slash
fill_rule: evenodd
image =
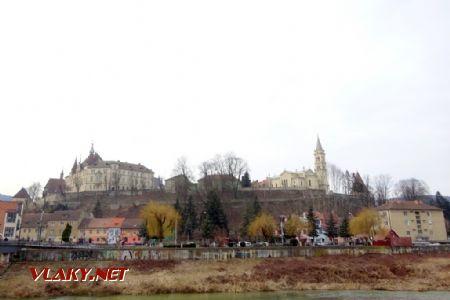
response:
<path id="1" fill-rule="evenodd" d="M 141 217 L 146 224 L 148 235 L 159 240 L 173 234 L 175 226 L 178 227 L 181 221 L 180 214 L 172 205 L 159 202 L 148 203 L 142 209 Z"/>

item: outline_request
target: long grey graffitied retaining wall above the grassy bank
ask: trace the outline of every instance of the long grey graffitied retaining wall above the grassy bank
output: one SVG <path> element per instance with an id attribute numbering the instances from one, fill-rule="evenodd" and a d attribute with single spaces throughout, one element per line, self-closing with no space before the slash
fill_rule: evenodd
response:
<path id="1" fill-rule="evenodd" d="M 229 260 L 235 258 L 310 257 L 325 255 L 403 254 L 450 252 L 447 246 L 426 247 L 277 247 L 193 249 L 22 249 L 12 261 L 78 260 Z"/>

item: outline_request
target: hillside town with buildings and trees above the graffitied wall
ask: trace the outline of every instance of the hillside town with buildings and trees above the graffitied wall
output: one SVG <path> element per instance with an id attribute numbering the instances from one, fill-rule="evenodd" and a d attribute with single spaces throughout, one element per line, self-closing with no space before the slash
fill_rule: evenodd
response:
<path id="1" fill-rule="evenodd" d="M 290 240 L 325 245 L 348 244 L 351 236 L 369 242 L 393 230 L 412 242 L 447 240 L 449 201 L 439 193 L 427 196 L 420 181 L 399 182 L 403 197 L 389 199 L 392 183 L 386 176 L 371 187 L 358 172 L 327 165 L 319 138 L 314 158 L 314 170 L 284 170 L 253 182 L 247 163 L 233 154 L 202 163 L 197 182 L 181 158 L 174 176 L 163 181 L 144 165 L 103 160 L 92 145 L 85 160 L 75 159 L 67 176 L 61 172 L 50 178 L 42 194 L 35 184 L 0 202 L 0 236 L 74 244 L 142 245 L 153 239 L 166 244 Z M 162 236 L 151 233 L 157 229 L 144 211 L 151 203 L 173 208 L 178 216 Z M 372 218 L 373 224 L 357 228 L 357 217 Z"/>

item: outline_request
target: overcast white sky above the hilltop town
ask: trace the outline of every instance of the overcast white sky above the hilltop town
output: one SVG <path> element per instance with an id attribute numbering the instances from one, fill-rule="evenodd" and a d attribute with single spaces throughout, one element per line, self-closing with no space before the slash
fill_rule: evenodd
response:
<path id="1" fill-rule="evenodd" d="M 449 1 L 0 3 L 0 193 L 104 159 L 327 159 L 450 194 Z"/>

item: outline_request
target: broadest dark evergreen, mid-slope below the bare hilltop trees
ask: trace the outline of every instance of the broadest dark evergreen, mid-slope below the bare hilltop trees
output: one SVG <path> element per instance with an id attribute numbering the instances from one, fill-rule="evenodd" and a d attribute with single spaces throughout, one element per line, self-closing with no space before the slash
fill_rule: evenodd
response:
<path id="1" fill-rule="evenodd" d="M 216 191 L 210 191 L 205 204 L 205 217 L 203 219 L 202 232 L 206 238 L 213 237 L 215 230 L 228 232 L 228 220 L 222 207 L 222 202 Z"/>

